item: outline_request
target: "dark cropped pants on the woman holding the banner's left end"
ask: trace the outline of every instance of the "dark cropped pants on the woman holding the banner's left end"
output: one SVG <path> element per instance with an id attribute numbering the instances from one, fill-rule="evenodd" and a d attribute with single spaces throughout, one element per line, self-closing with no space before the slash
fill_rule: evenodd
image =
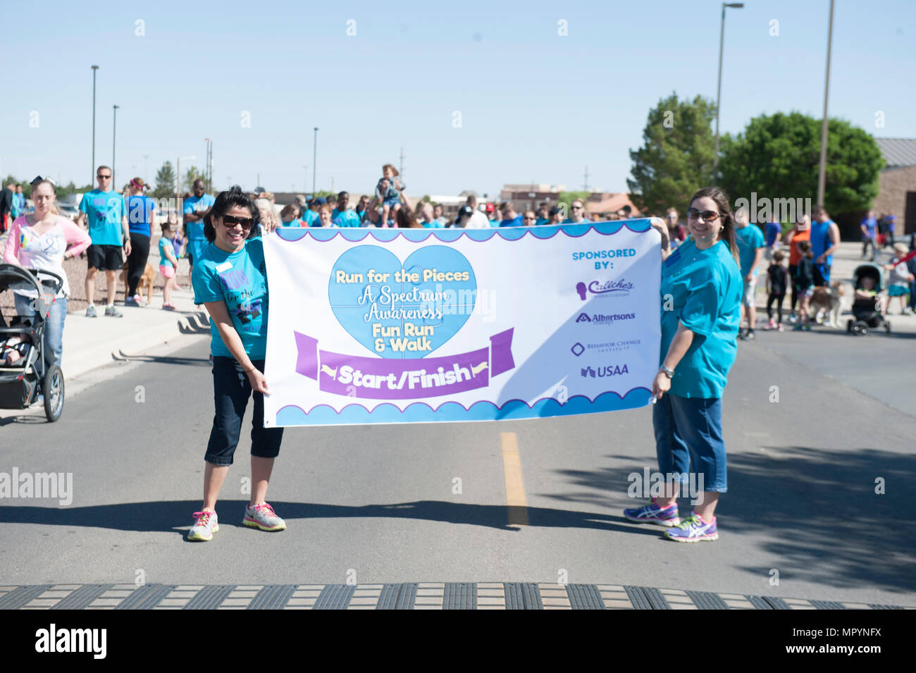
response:
<path id="1" fill-rule="evenodd" d="M 263 360 L 252 360 L 251 364 L 259 372 L 264 372 Z M 253 397 L 255 401 L 255 414 L 251 419 L 251 455 L 277 458 L 283 429 L 264 427 L 264 394 L 252 391 L 248 375 L 235 358 L 213 355 L 213 401 L 216 414 L 213 416 L 213 429 L 210 431 L 204 461 L 214 465 L 232 465 L 248 397 Z"/>

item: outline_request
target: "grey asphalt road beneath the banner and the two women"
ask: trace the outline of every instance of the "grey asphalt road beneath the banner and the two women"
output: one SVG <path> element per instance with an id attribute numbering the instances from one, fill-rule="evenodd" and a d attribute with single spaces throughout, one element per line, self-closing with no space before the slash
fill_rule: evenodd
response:
<path id="1" fill-rule="evenodd" d="M 916 605 L 916 335 L 758 331 L 742 342 L 724 398 L 720 538 L 699 545 L 621 516 L 634 503 L 627 474 L 656 469 L 648 408 L 287 429 L 268 501 L 288 530 L 275 534 L 241 525 L 245 430 L 217 506 L 220 531 L 187 542 L 213 418 L 207 342 L 188 339 L 153 362 L 112 365 L 113 377 L 69 399 L 56 424 L 0 419 L 0 472 L 73 474 L 69 506 L 0 499 L 0 583 L 133 583 L 141 571 L 146 582 L 185 584 L 558 581 L 565 572 L 570 582 Z M 527 526 L 507 523 L 503 433 L 516 433 Z"/>

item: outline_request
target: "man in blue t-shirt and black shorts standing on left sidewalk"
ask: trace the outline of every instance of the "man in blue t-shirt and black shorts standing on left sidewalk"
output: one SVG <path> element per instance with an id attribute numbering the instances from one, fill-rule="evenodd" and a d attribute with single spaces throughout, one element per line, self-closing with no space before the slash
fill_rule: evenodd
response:
<path id="1" fill-rule="evenodd" d="M 82 195 L 80 214 L 77 217 L 78 224 L 85 223 L 88 226 L 89 237 L 93 239 L 93 244 L 86 248 L 86 317 L 98 317 L 95 310 L 95 277 L 101 269 L 105 272 L 105 285 L 108 289 L 105 315 L 121 318 L 121 311 L 114 308 L 114 283 L 117 272 L 124 267 L 122 248 L 127 255 L 131 251 L 127 209 L 124 197 L 112 190 L 111 168 L 96 168 L 95 179 L 99 181 L 99 186 Z"/>

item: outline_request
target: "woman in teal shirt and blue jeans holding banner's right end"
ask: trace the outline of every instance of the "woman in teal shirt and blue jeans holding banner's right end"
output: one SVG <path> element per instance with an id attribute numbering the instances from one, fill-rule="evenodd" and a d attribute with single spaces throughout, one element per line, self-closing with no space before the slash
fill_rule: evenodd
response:
<path id="1" fill-rule="evenodd" d="M 687 209 L 690 238 L 673 253 L 661 234 L 661 366 L 652 384 L 652 409 L 663 497 L 625 509 L 630 521 L 668 526 L 678 542 L 718 539 L 715 505 L 725 493 L 722 393 L 732 364 L 743 289 L 735 224 L 728 197 L 717 187 L 698 190 Z M 691 516 L 678 516 L 679 486 L 699 472 Z M 702 479 L 702 481 L 700 481 Z"/>

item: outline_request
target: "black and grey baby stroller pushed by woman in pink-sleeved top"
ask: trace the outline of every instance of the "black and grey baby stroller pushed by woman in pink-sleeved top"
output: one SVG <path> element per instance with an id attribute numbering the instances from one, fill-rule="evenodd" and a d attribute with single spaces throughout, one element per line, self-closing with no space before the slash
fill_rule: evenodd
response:
<path id="1" fill-rule="evenodd" d="M 42 278 L 38 279 L 38 274 Z M 50 422 L 60 418 L 63 411 L 63 374 L 58 364 L 45 362 L 45 324 L 50 305 L 54 303 L 63 278 L 45 270 L 26 269 L 12 264 L 0 264 L 0 298 L 12 303 L 13 290 L 35 292 L 38 310 L 34 318 L 13 315 L 14 309 L 0 308 L 0 344 L 4 353 L 16 342 L 15 362 L 0 359 L 0 408 L 25 409 L 44 396 L 45 416 Z M 9 320 L 7 320 L 7 316 Z M 33 324 L 34 323 L 34 324 Z"/>

